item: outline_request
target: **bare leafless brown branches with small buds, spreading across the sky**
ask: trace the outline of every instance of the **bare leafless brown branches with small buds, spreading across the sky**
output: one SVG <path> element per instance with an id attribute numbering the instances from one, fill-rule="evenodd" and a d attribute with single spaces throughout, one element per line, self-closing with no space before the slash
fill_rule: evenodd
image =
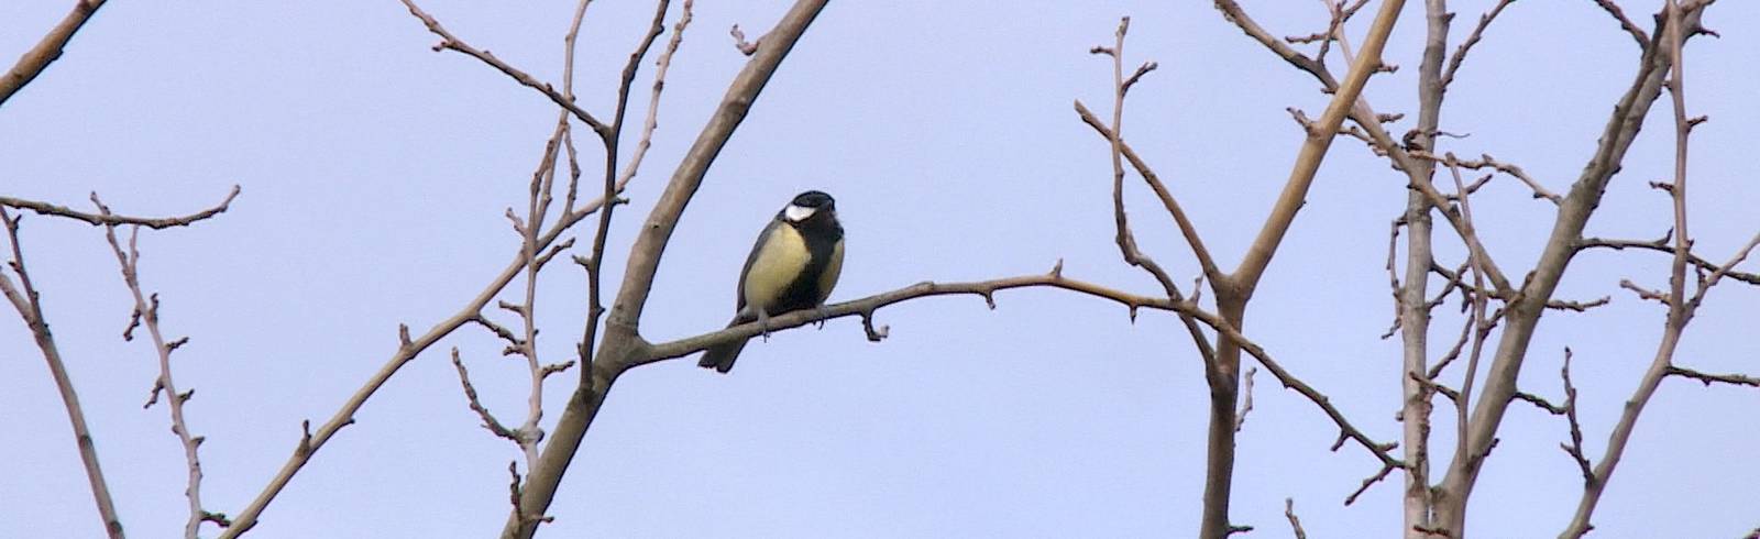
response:
<path id="1" fill-rule="evenodd" d="M 1072 278 L 1065 275 L 1063 262 L 1058 261 L 1047 273 L 979 282 L 919 282 L 896 291 L 827 305 L 820 310 L 771 317 L 767 324 L 741 324 L 671 342 L 649 342 L 641 328 L 655 275 L 660 270 L 667 247 L 674 240 L 679 218 L 702 187 L 720 151 L 732 139 L 741 122 L 752 113 L 766 85 L 829 2 L 794 2 L 773 28 L 750 42 L 737 26 L 730 30 L 736 41 L 734 46 L 748 60 L 727 83 L 725 95 L 704 122 L 690 148 L 678 157 L 678 164 L 671 171 L 664 190 L 634 229 L 635 240 L 628 252 L 623 254 L 625 271 L 616 284 L 604 280 L 607 255 L 618 255 L 609 248 L 607 238 L 616 224 L 618 208 L 632 204 L 623 194 L 639 178 L 641 164 L 653 144 L 667 70 L 690 28 L 693 2 L 679 2 L 676 9 L 671 0 L 655 2 L 653 18 L 644 26 L 646 32 L 634 44 L 621 70 L 616 72 L 618 90 L 609 113 L 590 111 L 577 102 L 576 95 L 577 37 L 588 14 L 590 0 L 579 0 L 574 7 L 568 32 L 563 37 L 565 60 L 560 83 L 542 81 L 495 56 L 488 48 L 466 42 L 444 26 L 436 16 L 422 11 L 415 0 L 400 2 L 412 18 L 440 39 L 433 46 L 435 51 L 452 51 L 473 58 L 505 74 L 521 85 L 521 88 L 537 92 L 540 99 L 556 107 L 556 120 L 549 127 L 537 167 L 532 171 L 530 180 L 521 173 L 521 181 L 526 181 L 523 185 L 528 185 L 523 211 L 516 211 L 514 208 L 505 210 L 505 218 L 519 238 L 517 254 L 507 262 L 505 270 L 482 285 L 480 292 L 468 298 L 458 312 L 444 321 L 419 335 L 408 326 L 400 326 L 400 345 L 391 358 L 329 419 L 317 425 L 317 428 L 313 428 L 312 421 L 301 425 L 301 435 L 287 461 L 269 477 L 260 493 L 248 504 L 243 504 L 243 509 L 232 518 L 206 509 L 208 506 L 202 502 L 199 447 L 204 439 L 192 433 L 185 419 L 185 403 L 194 396 L 194 389 L 180 391 L 171 361 L 172 352 L 185 345 L 188 338 L 167 340 L 162 331 L 158 294 L 146 292 L 139 280 L 141 254 L 137 236 L 141 227 L 181 227 L 216 217 L 229 210 L 239 190 L 234 187 L 225 199 L 208 210 L 167 218 L 113 213 L 99 201 L 97 194 L 92 196 L 95 211 L 81 211 L 42 201 L 0 197 L 0 220 L 4 220 L 11 245 L 11 261 L 7 264 L 11 273 L 0 271 L 0 292 L 18 310 L 49 365 L 51 377 L 60 389 L 72 423 L 76 446 L 100 520 L 111 537 L 121 537 L 123 525 L 99 467 L 93 433 L 86 426 L 77 391 L 67 375 L 65 359 L 44 317 L 40 294 L 26 270 L 26 248 L 19 241 L 23 215 L 14 215 L 16 211 L 35 211 L 62 220 L 104 227 L 106 240 L 116 255 L 123 284 L 134 305 L 123 338 L 132 340 L 136 328 L 146 328 L 158 365 L 148 407 L 157 403 L 160 391 L 164 391 L 172 433 L 178 437 L 185 454 L 185 495 L 188 498 L 185 537 L 197 537 L 202 523 L 218 525 L 222 537 L 238 537 L 250 532 L 259 525 L 262 513 L 312 461 L 317 451 L 331 442 L 345 426 L 354 425 L 361 407 L 391 377 L 429 347 L 454 336 L 466 326 L 480 328 L 498 338 L 505 345 L 502 356 L 519 359 L 526 386 L 523 416 L 519 419 L 503 419 L 505 416 L 495 414 L 479 396 L 479 389 L 472 382 L 470 368 L 466 366 L 466 354 L 459 347 L 451 347 L 449 351 L 466 407 L 475 414 L 484 430 L 517 447 L 524 461 L 523 465 L 521 460 L 507 463 L 510 476 L 507 486 L 509 516 L 503 523 L 502 537 L 532 537 L 544 523 L 553 520 L 551 504 L 561 488 L 565 474 L 574 463 L 611 388 L 628 370 L 685 358 L 766 331 L 783 331 L 840 317 L 861 317 L 864 336 L 878 342 L 889 333 L 887 326 L 875 322 L 880 308 L 931 296 L 980 296 L 994 306 L 994 294 L 998 291 L 1049 287 L 1118 303 L 1130 312 L 1132 321 L 1135 321 L 1135 314 L 1140 308 L 1174 314 L 1179 319 L 1183 333 L 1192 338 L 1193 349 L 1202 359 L 1204 379 L 1209 386 L 1204 497 L 1199 509 L 1202 520 L 1199 528 L 1200 537 L 1228 537 L 1253 530 L 1250 525 L 1230 520 L 1237 451 L 1236 437 L 1246 426 L 1248 412 L 1253 410 L 1253 373 L 1257 372 L 1257 368 L 1248 368 L 1244 377 L 1246 386 L 1243 388 L 1243 356 L 1251 356 L 1283 388 L 1299 393 L 1327 417 L 1325 421 L 1331 423 L 1331 428 L 1338 430 L 1336 442 L 1331 446 L 1332 451 L 1339 451 L 1350 444 L 1366 449 L 1376 461 L 1373 472 L 1366 472 L 1368 477 L 1345 497 L 1343 502 L 1346 506 L 1353 504 L 1364 491 L 1396 470 L 1403 470 L 1401 521 L 1406 537 L 1466 535 L 1468 502 L 1478 483 L 1480 470 L 1487 465 L 1491 449 L 1498 444 L 1500 425 L 1508 407 L 1515 402 L 1526 402 L 1549 414 L 1565 417 L 1568 442 L 1561 444 L 1561 449 L 1580 470 L 1584 488 L 1570 525 L 1561 532 L 1561 537 L 1580 537 L 1593 528 L 1591 521 L 1602 493 L 1610 484 L 1612 474 L 1637 428 L 1639 416 L 1646 403 L 1653 400 L 1663 379 L 1681 377 L 1702 382 L 1704 386 L 1760 388 L 1760 379 L 1741 373 L 1707 373 L 1677 365 L 1674 358 L 1684 329 L 1712 287 L 1727 278 L 1760 285 L 1760 275 L 1737 271 L 1737 266 L 1760 245 L 1760 234 L 1734 254 L 1721 257 L 1721 262 L 1695 254 L 1693 236 L 1688 234 L 1688 143 L 1693 127 L 1705 122 L 1705 118 L 1690 116 L 1688 113 L 1683 48 L 1691 37 L 1711 33 L 1700 26 L 1705 9 L 1712 4 L 1711 0 L 1665 0 L 1654 18 L 1656 25 L 1649 32 L 1626 18 L 1617 4 L 1596 0 L 1596 5 L 1617 21 L 1619 32 L 1630 33 L 1637 42 L 1637 74 L 1616 102 L 1614 113 L 1609 116 L 1582 173 L 1563 192 L 1549 190 L 1545 178 L 1535 178 L 1521 166 L 1498 160 L 1487 151 L 1477 151 L 1478 159 L 1461 159 L 1454 150 L 1448 150 L 1466 146 L 1466 143 L 1452 141 L 1450 134 L 1443 129 L 1447 122 L 1441 118 L 1441 106 L 1448 86 L 1463 65 L 1466 65 L 1464 60 L 1473 48 L 1485 39 L 1494 21 L 1505 16 L 1507 11 L 1512 11 L 1514 0 L 1496 2 L 1478 18 L 1471 32 L 1457 42 L 1450 42 L 1454 14 L 1448 12 L 1447 2 L 1424 2 L 1426 30 L 1422 62 L 1417 74 L 1417 118 L 1413 127 L 1399 137 L 1390 129 L 1394 129 L 1394 123 L 1403 122 L 1404 116 L 1378 113 L 1364 97 L 1364 88 L 1375 81 L 1375 74 L 1396 69 L 1383 63 L 1382 58 L 1389 35 L 1401 18 L 1404 2 L 1382 2 L 1366 26 L 1360 46 L 1353 46 L 1352 39 L 1346 37 L 1346 28 L 1352 18 L 1368 5 L 1368 0 L 1324 0 L 1322 5 L 1327 11 L 1327 19 L 1320 32 L 1283 39 L 1260 26 L 1234 0 L 1216 0 L 1214 7 L 1228 25 L 1237 26 L 1267 51 L 1316 79 L 1324 93 L 1329 95 L 1327 106 L 1318 118 L 1309 118 L 1301 109 L 1290 109 L 1292 118 L 1302 130 L 1302 144 L 1294 157 L 1294 166 L 1283 181 L 1281 194 L 1272 203 L 1258 234 L 1244 248 L 1244 255 L 1234 270 L 1223 270 L 1216 261 L 1200 229 L 1186 215 L 1186 208 L 1181 206 L 1176 196 L 1177 185 L 1170 187 L 1170 181 L 1156 174 L 1149 160 L 1125 139 L 1126 97 L 1158 69 L 1158 63 L 1144 62 L 1135 69 L 1126 69 L 1125 46 L 1130 18 L 1123 18 L 1112 42 L 1091 49 L 1093 55 L 1104 55 L 1111 60 L 1111 118 L 1102 118 L 1081 100 L 1074 107 L 1077 118 L 1091 127 L 1107 144 L 1112 196 L 1111 217 L 1119 257 L 1128 266 L 1148 273 L 1160 285 L 1160 291 L 1132 292 Z M 102 0 L 77 2 L 74 11 L 30 49 L 18 65 L 0 76 L 0 104 L 44 72 L 62 55 L 62 49 L 81 25 L 102 5 Z M 667 32 L 667 21 L 672 21 L 671 33 Z M 665 39 L 662 41 L 664 35 Z M 1313 51 L 1304 53 L 1297 48 L 1313 48 Z M 1343 74 L 1336 74 L 1327 63 L 1329 60 L 1341 60 L 1345 63 Z M 651 76 L 646 79 L 649 83 L 646 92 L 648 104 L 642 111 L 635 139 L 628 141 L 625 139 L 627 123 L 634 123 L 628 122 L 634 118 L 630 100 L 639 93 L 637 79 L 642 78 L 642 65 L 646 62 L 653 62 Z M 1674 227 L 1665 238 L 1656 241 L 1584 236 L 1588 220 L 1596 213 L 1607 185 L 1621 169 L 1649 107 L 1660 99 L 1663 90 L 1670 92 L 1674 107 L 1674 178 L 1672 181 L 1656 181 L 1653 187 L 1670 197 Z M 586 127 L 590 132 L 588 139 L 597 137 L 600 143 L 598 148 L 602 148 L 598 176 L 588 174 L 586 185 L 581 183 L 581 162 L 590 159 L 593 151 L 577 148 L 576 130 L 579 127 Z M 1297 377 L 1285 361 L 1274 358 L 1271 351 L 1244 333 L 1246 314 L 1255 291 L 1283 240 L 1297 225 L 1297 213 L 1315 190 L 1320 164 L 1338 137 L 1360 141 L 1375 155 L 1385 157 L 1389 166 L 1401 173 L 1399 181 L 1389 183 L 1389 188 L 1406 192 L 1404 206 L 1397 210 L 1397 217 L 1389 227 L 1387 280 L 1390 284 L 1390 296 L 1394 298 L 1394 322 L 1383 336 L 1390 338 L 1394 333 L 1401 336 L 1397 380 L 1401 388 L 1397 416 L 1401 421 L 1399 442 L 1375 440 L 1359 426 L 1360 423 L 1346 417 L 1327 393 Z M 1480 171 L 1484 176 L 1470 181 L 1463 171 Z M 1192 289 L 1183 289 L 1169 270 L 1139 247 L 1126 211 L 1125 185 L 1126 176 L 1132 173 L 1155 194 L 1162 210 L 1170 217 L 1172 225 L 1177 227 L 1179 238 L 1188 245 L 1192 259 L 1200 268 L 1200 275 Z M 1438 173 L 1447 173 L 1441 181 L 1443 187 L 1438 187 Z M 1485 208 L 1480 204 L 1482 201 L 1473 201 L 1480 187 L 1500 176 L 1519 181 L 1524 192 L 1531 190 L 1535 199 L 1545 201 L 1545 206 L 1556 211 L 1554 225 L 1547 233 L 1538 262 L 1529 270 L 1522 270 L 1521 277 L 1515 277 L 1515 271 L 1496 262 L 1494 250 L 1482 241 L 1475 227 L 1475 215 L 1484 217 L 1487 211 L 1505 211 L 1501 208 Z M 598 181 L 595 183 L 593 180 Z M 560 206 L 556 204 L 558 185 L 561 185 Z M 1436 218 L 1443 220 L 1443 240 L 1438 240 Z M 121 225 L 130 229 L 127 247 L 123 247 L 116 234 L 116 227 Z M 590 236 L 590 243 L 577 247 L 577 234 Z M 1403 257 L 1401 234 L 1404 234 Z M 1464 252 L 1464 259 L 1459 262 L 1438 261 L 1436 241 L 1450 241 L 1445 247 L 1456 247 L 1452 241 L 1459 241 L 1457 247 Z M 1639 388 L 1628 400 L 1617 425 L 1612 426 L 1609 442 L 1598 460 L 1591 460 L 1584 449 L 1584 426 L 1579 419 L 1577 386 L 1570 372 L 1570 349 L 1565 351 L 1565 365 L 1559 372 L 1565 393 L 1563 402 L 1554 403 L 1535 393 L 1521 391 L 1515 384 L 1529 356 L 1533 336 L 1540 328 L 1540 317 L 1545 312 L 1586 312 L 1610 301 L 1610 298 L 1588 301 L 1558 298 L 1559 280 L 1565 277 L 1573 257 L 1591 248 L 1670 255 L 1668 287 L 1665 291 L 1649 289 L 1635 280 L 1619 284 L 1639 299 L 1661 305 L 1665 319 L 1651 366 L 1639 380 Z M 553 268 L 551 262 L 558 255 L 568 255 L 574 266 L 583 270 L 590 306 L 588 315 L 579 321 L 581 338 L 574 343 L 572 356 L 560 359 L 542 356 L 539 336 L 544 333 L 537 317 L 540 275 L 546 268 Z M 561 266 L 567 268 L 568 264 Z M 1440 291 L 1433 291 L 1433 278 L 1440 282 Z M 516 280 L 523 285 L 510 291 Z M 1209 291 L 1207 298 L 1202 294 L 1204 289 Z M 1457 331 L 1448 333 L 1454 338 L 1448 352 L 1433 358 L 1429 338 L 1434 310 L 1445 305 L 1450 296 L 1459 298 L 1463 321 Z M 1204 299 L 1209 301 L 1207 306 L 1211 308 L 1206 308 Z M 503 317 L 517 321 L 503 322 Z M 1463 366 L 1456 373 L 1448 373 L 1447 368 L 1457 363 Z M 1480 373 L 1482 365 L 1485 366 L 1484 373 Z M 546 432 L 544 393 L 553 375 L 570 370 L 574 370 L 574 377 L 560 379 L 572 380 L 574 388 L 570 389 L 567 405 L 553 423 L 553 430 Z M 1450 400 L 1452 410 L 1448 412 L 1452 412 L 1454 423 L 1459 428 L 1456 446 L 1441 460 L 1438 460 L 1436 446 L 1431 444 L 1431 421 L 1436 414 L 1434 398 L 1438 395 Z M 1440 477 L 1433 476 L 1433 463 L 1436 461 L 1445 461 Z M 1283 514 L 1292 532 L 1297 537 L 1306 537 L 1306 530 L 1294 509 L 1294 498 L 1285 498 Z"/>

